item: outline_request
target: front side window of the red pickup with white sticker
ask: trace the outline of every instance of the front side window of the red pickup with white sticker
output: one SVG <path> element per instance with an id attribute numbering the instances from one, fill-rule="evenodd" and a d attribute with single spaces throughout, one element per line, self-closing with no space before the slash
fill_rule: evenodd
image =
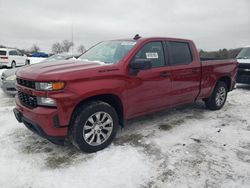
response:
<path id="1" fill-rule="evenodd" d="M 135 55 L 135 59 L 151 59 L 152 67 L 165 66 L 162 43 L 150 42 L 145 44 Z"/>

